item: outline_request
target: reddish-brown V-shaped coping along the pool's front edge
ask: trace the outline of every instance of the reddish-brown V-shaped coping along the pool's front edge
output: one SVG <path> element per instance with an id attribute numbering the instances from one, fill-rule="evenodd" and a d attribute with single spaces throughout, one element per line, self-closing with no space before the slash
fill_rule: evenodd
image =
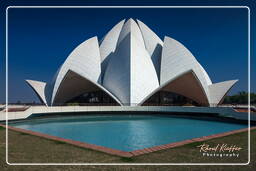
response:
<path id="1" fill-rule="evenodd" d="M 7 126 L 4 124 L 0 124 L 0 126 L 7 128 Z M 77 147 L 91 149 L 91 150 L 95 150 L 95 151 L 99 151 L 99 152 L 103 152 L 103 153 L 107 153 L 107 154 L 111 154 L 111 155 L 115 155 L 115 156 L 119 156 L 119 157 L 135 157 L 135 156 L 139 156 L 139 155 L 143 155 L 143 154 L 148 154 L 151 152 L 156 152 L 156 151 L 160 151 L 160 150 L 166 150 L 166 149 L 183 146 L 185 144 L 190 144 L 193 142 L 202 142 L 202 141 L 206 141 L 206 140 L 210 140 L 210 139 L 214 139 L 214 138 L 224 137 L 224 136 L 248 131 L 248 128 L 242 128 L 242 129 L 223 132 L 223 133 L 219 133 L 219 134 L 213 134 L 213 135 L 203 136 L 203 137 L 199 137 L 199 138 L 192 138 L 192 139 L 187 139 L 187 140 L 183 140 L 183 141 L 179 141 L 179 142 L 157 145 L 157 146 L 153 146 L 153 147 L 149 147 L 149 148 L 143 148 L 143 149 L 127 152 L 127 151 L 117 150 L 117 149 L 99 146 L 99 145 L 95 145 L 95 144 L 89 144 L 89 143 L 85 143 L 85 142 L 81 142 L 81 141 L 75 141 L 75 140 L 71 140 L 71 139 L 61 138 L 61 137 L 48 135 L 48 134 L 44 134 L 44 133 L 40 133 L 40 132 L 35 132 L 35 131 L 31 131 L 31 130 L 26 130 L 26 129 L 22 129 L 22 128 L 16 128 L 16 127 L 12 127 L 9 125 L 8 125 L 7 129 L 10 129 L 10 130 L 13 130 L 16 132 L 26 133 L 29 135 L 34 135 L 37 137 L 46 138 L 46 139 L 53 140 L 53 141 L 60 141 L 60 142 L 71 144 L 71 145 L 74 145 Z M 250 127 L 250 130 L 255 130 L 255 129 L 256 129 L 256 126 Z"/>

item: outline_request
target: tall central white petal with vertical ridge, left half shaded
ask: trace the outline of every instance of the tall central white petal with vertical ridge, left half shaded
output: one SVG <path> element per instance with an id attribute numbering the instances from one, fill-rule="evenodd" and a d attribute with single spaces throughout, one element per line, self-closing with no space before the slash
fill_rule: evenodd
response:
<path id="1" fill-rule="evenodd" d="M 110 59 L 103 86 L 124 105 L 137 105 L 156 89 L 157 74 L 142 39 L 138 25 L 128 20 L 120 35 L 116 52 Z"/>

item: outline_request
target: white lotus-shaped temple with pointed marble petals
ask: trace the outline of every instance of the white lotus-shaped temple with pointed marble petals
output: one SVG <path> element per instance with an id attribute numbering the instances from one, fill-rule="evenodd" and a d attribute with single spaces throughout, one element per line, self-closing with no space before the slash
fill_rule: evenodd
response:
<path id="1" fill-rule="evenodd" d="M 168 36 L 161 40 L 143 22 L 129 19 L 102 40 L 95 36 L 78 45 L 52 81 L 26 81 L 46 106 L 95 99 L 120 106 L 154 105 L 170 93 L 197 106 L 217 106 L 238 80 L 212 83 L 183 44 Z"/>

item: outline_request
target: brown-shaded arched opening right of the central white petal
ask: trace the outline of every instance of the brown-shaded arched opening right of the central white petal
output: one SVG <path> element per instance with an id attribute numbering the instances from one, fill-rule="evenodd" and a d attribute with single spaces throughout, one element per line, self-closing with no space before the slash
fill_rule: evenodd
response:
<path id="1" fill-rule="evenodd" d="M 208 106 L 209 103 L 197 76 L 189 70 L 152 92 L 142 105 Z"/>

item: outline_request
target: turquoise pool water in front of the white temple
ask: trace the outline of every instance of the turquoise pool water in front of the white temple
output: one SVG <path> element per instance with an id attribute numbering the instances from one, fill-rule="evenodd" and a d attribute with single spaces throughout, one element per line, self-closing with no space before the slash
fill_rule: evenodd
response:
<path id="1" fill-rule="evenodd" d="M 10 124 L 35 132 L 133 151 L 246 128 L 247 125 L 167 115 L 79 115 Z"/>

